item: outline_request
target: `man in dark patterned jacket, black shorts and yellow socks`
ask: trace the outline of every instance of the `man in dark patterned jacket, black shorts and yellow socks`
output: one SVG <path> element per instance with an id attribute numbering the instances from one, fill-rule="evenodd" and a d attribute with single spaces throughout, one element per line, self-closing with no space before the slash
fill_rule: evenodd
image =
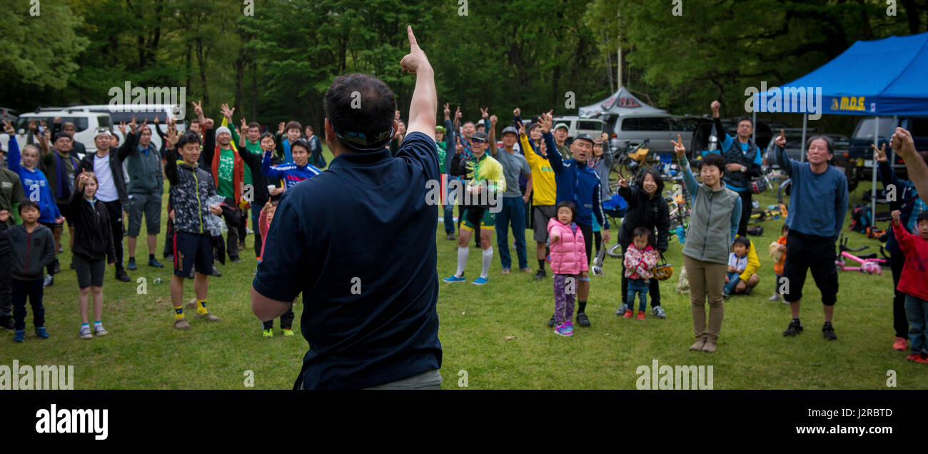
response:
<path id="1" fill-rule="evenodd" d="M 184 317 L 184 279 L 196 267 L 194 289 L 197 292 L 197 318 L 219 321 L 206 310 L 206 292 L 209 275 L 213 272 L 213 241 L 206 230 L 209 214 L 222 214 L 219 205 L 209 206 L 200 201 L 216 195 L 213 175 L 197 167 L 200 159 L 200 136 L 187 131 L 177 137 L 177 131 L 168 130 L 167 163 L 164 174 L 171 183 L 171 202 L 174 208 L 174 278 L 171 279 L 171 301 L 174 305 L 174 328 L 189 330 Z M 178 160 L 178 157 L 183 158 Z"/>

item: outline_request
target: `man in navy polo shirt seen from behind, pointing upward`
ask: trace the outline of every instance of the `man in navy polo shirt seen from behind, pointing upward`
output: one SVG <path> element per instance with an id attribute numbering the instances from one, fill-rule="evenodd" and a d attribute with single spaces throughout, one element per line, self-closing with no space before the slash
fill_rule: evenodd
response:
<path id="1" fill-rule="evenodd" d="M 301 331 L 310 349 L 296 389 L 438 389 L 438 181 L 434 71 L 407 29 L 402 69 L 417 75 L 408 135 L 385 148 L 397 123 L 393 92 L 348 74 L 326 92 L 329 169 L 284 193 L 267 232 L 251 308 L 277 318 L 303 292 Z M 357 107 L 360 95 L 361 108 Z M 366 240 L 367 239 L 367 240 Z"/>

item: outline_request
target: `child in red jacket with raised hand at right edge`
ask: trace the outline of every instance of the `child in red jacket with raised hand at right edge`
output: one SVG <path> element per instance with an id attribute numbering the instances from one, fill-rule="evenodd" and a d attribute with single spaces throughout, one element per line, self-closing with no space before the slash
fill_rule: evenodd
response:
<path id="1" fill-rule="evenodd" d="M 906 264 L 899 279 L 899 292 L 906 293 L 906 318 L 909 320 L 909 340 L 912 342 L 912 354 L 906 357 L 911 361 L 928 363 L 928 345 L 925 335 L 928 333 L 928 212 L 918 216 L 919 234 L 912 235 L 900 221 L 899 210 L 894 210 L 893 233 L 899 242 L 899 248 L 906 254 Z"/>

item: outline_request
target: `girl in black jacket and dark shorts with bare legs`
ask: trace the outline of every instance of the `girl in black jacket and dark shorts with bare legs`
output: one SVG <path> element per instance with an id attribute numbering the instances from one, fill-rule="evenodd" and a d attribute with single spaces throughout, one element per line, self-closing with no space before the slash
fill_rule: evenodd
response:
<path id="1" fill-rule="evenodd" d="M 97 175 L 83 172 L 77 176 L 76 188 L 71 191 L 69 210 L 74 220 L 74 271 L 77 272 L 78 304 L 81 306 L 81 339 L 92 339 L 87 323 L 87 297 L 94 293 L 94 332 L 107 335 L 103 329 L 103 275 L 107 264 L 116 262 L 113 237 L 110 230 L 110 210 L 97 200 Z"/>

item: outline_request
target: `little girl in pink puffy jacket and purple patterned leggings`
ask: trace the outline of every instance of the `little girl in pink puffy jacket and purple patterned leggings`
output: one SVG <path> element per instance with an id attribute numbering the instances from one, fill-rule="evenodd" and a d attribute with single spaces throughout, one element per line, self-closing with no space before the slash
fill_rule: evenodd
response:
<path id="1" fill-rule="evenodd" d="M 554 274 L 554 332 L 574 334 L 574 294 L 578 278 L 586 278 L 586 243 L 580 227 L 574 224 L 576 207 L 570 201 L 558 203 L 557 216 L 548 221 L 551 239 L 551 272 Z"/>

